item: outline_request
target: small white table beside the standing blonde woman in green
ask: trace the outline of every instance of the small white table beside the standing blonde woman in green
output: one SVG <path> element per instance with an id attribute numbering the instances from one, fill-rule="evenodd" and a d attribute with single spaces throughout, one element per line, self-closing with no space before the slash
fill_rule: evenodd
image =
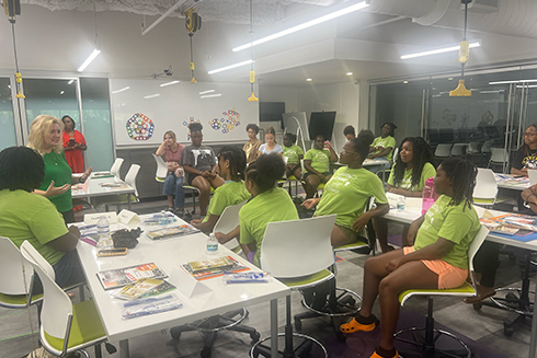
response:
<path id="1" fill-rule="evenodd" d="M 125 187 L 102 187 L 101 184 L 123 184 Z M 77 184 L 71 188 L 71 196 L 76 198 L 88 198 L 98 196 L 110 196 L 127 194 L 127 205 L 130 210 L 130 194 L 135 194 L 134 187 L 125 184 L 122 180 L 115 176 L 93 177 L 90 176 L 85 183 Z"/>

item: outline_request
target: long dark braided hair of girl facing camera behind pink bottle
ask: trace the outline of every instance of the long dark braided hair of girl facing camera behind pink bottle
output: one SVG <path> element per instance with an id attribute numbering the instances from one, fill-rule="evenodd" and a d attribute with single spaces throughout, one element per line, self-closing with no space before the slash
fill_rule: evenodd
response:
<path id="1" fill-rule="evenodd" d="M 414 158 L 412 159 L 412 187 L 416 187 L 420 184 L 420 180 L 423 172 L 423 166 L 425 163 L 431 163 L 436 168 L 436 158 L 434 157 L 433 150 L 429 143 L 422 137 L 407 137 L 401 141 L 399 146 L 399 153 L 401 152 L 404 142 L 412 143 L 412 152 Z M 407 164 L 402 162 L 401 155 L 397 157 L 396 165 L 393 168 L 393 186 L 399 187 L 402 183 L 404 176 L 404 170 Z"/>

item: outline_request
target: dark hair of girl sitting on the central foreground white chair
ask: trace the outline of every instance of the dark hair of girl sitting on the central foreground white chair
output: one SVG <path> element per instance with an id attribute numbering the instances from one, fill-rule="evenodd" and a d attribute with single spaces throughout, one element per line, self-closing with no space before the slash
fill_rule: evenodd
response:
<path id="1" fill-rule="evenodd" d="M 262 154 L 247 168 L 247 177 L 258 186 L 260 194 L 275 187 L 284 173 L 284 160 L 276 153 Z"/>

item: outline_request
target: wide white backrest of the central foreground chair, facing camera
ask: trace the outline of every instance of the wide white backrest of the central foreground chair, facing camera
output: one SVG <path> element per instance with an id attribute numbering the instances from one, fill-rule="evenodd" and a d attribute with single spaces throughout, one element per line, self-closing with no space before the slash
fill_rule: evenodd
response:
<path id="1" fill-rule="evenodd" d="M 261 244 L 261 267 L 276 278 L 312 275 L 334 263 L 330 234 L 335 215 L 270 222 Z"/>

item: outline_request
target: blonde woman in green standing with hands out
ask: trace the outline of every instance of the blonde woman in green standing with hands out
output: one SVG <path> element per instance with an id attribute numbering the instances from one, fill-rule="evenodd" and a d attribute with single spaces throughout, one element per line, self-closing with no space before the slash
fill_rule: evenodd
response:
<path id="1" fill-rule="evenodd" d="M 28 147 L 35 149 L 45 162 L 45 180 L 34 193 L 47 197 L 64 216 L 66 223 L 75 222 L 71 184 L 83 183 L 91 174 L 90 166 L 80 177 L 72 177 L 67 164 L 61 136 L 64 123 L 56 117 L 39 115 L 30 127 Z"/>

